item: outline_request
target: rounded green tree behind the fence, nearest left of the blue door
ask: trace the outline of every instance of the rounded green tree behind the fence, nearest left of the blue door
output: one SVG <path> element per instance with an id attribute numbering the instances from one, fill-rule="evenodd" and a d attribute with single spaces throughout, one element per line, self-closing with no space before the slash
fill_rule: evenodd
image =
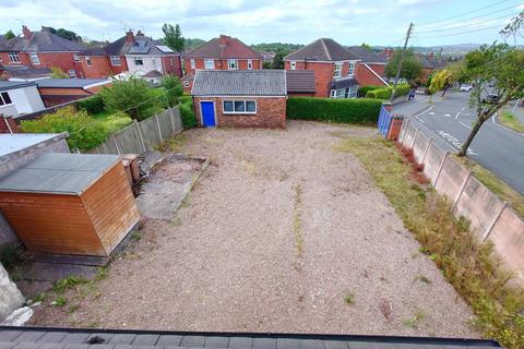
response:
<path id="1" fill-rule="evenodd" d="M 158 94 L 141 77 L 114 80 L 111 87 L 99 92 L 106 110 L 124 111 L 133 120 L 144 120 L 153 116 L 160 103 Z"/>

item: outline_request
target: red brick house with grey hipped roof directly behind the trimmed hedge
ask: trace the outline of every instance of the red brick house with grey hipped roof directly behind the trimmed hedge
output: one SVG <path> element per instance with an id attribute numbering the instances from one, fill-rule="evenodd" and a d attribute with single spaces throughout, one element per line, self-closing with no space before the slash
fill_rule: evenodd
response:
<path id="1" fill-rule="evenodd" d="M 359 58 L 333 39 L 318 39 L 284 58 L 286 70 L 314 71 L 315 97 L 356 98 Z"/>

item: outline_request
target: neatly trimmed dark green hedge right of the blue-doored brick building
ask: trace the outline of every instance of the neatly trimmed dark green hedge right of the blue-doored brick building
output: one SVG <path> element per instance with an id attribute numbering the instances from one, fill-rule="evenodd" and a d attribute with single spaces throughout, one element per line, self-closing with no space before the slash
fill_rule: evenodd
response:
<path id="1" fill-rule="evenodd" d="M 373 124 L 379 119 L 382 101 L 378 99 L 333 99 L 291 97 L 287 99 L 287 118 Z"/>

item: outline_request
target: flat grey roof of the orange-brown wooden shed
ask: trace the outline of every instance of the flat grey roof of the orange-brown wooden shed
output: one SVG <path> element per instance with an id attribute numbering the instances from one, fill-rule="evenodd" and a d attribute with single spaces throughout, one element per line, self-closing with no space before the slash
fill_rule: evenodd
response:
<path id="1" fill-rule="evenodd" d="M 80 195 L 119 160 L 117 155 L 46 153 L 0 180 L 0 192 Z"/>

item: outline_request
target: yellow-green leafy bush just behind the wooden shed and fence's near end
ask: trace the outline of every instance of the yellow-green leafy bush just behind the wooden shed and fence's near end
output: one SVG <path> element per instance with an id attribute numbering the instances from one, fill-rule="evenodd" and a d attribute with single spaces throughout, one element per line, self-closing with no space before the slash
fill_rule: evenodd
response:
<path id="1" fill-rule="evenodd" d="M 107 137 L 106 129 L 88 116 L 85 110 L 73 107 L 60 108 L 37 120 L 24 120 L 22 131 L 28 133 L 69 132 L 68 144 L 71 149 L 91 149 Z"/>

